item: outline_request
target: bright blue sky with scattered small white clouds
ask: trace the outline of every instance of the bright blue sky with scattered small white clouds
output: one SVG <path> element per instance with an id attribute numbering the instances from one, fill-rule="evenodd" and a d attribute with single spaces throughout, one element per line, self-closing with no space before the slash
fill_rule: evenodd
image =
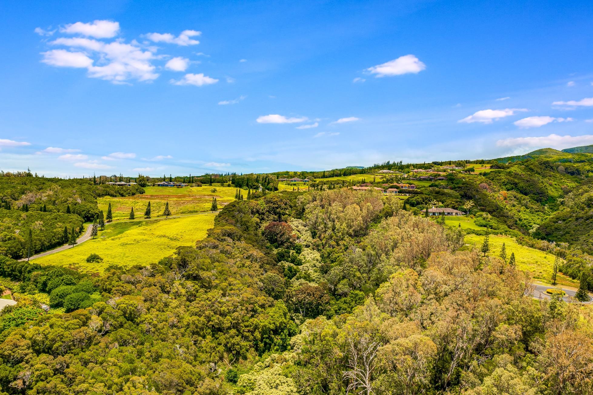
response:
<path id="1" fill-rule="evenodd" d="M 321 170 L 593 144 L 593 4 L 5 1 L 0 168 Z"/>

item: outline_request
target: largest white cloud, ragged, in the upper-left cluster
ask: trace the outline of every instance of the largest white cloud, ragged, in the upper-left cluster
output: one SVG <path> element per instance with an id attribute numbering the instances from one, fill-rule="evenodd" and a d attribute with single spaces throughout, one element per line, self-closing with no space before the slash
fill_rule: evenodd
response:
<path id="1" fill-rule="evenodd" d="M 155 66 L 151 60 L 157 59 L 150 50 L 142 50 L 138 43 L 126 44 L 121 41 L 104 43 L 82 37 L 60 37 L 50 42 L 52 45 L 61 45 L 74 48 L 83 48 L 90 51 L 97 62 L 89 58 L 88 53 L 69 52 L 66 50 L 51 50 L 44 52 L 42 60 L 52 66 L 87 68 L 88 77 L 101 78 L 115 84 L 123 84 L 127 79 L 138 81 L 152 81 L 158 78 Z"/>

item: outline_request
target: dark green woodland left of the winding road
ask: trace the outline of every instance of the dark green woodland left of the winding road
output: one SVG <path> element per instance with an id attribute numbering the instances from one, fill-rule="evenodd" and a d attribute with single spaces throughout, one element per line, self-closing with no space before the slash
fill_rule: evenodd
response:
<path id="1" fill-rule="evenodd" d="M 144 193 L 87 179 L 0 177 L 0 255 L 15 259 L 68 243 L 99 214 L 97 198 Z M 30 251 L 29 251 L 30 250 Z"/>

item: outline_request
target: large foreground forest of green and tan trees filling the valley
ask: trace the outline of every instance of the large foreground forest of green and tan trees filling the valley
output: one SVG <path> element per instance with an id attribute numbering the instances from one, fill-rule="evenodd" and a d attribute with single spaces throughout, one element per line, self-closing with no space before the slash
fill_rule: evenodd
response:
<path id="1" fill-rule="evenodd" d="M 20 303 L 0 316 L 0 387 L 591 393 L 589 310 L 525 296 L 526 273 L 401 205 L 351 190 L 237 200 L 196 248 L 101 277 L 3 259 Z"/>

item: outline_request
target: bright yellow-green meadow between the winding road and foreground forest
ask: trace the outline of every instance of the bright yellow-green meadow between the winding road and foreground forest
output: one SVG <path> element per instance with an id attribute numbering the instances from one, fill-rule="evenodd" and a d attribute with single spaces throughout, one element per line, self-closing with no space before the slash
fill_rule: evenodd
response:
<path id="1" fill-rule="evenodd" d="M 109 265 L 149 265 L 171 255 L 178 246 L 193 246 L 206 237 L 214 225 L 216 213 L 195 214 L 180 218 L 152 219 L 109 224 L 95 239 L 55 254 L 39 257 L 40 265 L 71 267 L 85 273 L 103 273 Z M 98 254 L 101 263 L 87 263 Z"/>

